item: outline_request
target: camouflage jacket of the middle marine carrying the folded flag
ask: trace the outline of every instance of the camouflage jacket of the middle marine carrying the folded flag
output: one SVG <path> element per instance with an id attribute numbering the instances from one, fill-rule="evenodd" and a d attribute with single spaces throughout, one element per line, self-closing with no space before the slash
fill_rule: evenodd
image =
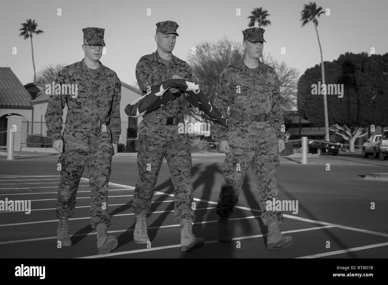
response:
<path id="1" fill-rule="evenodd" d="M 158 51 L 141 57 L 136 65 L 135 74 L 137 83 L 144 94 L 149 91 L 147 89 L 150 88 L 152 90 L 166 80 L 171 79 L 173 74 L 192 80 L 192 69 L 187 62 L 171 55 L 170 63 L 166 66 L 161 60 Z M 177 89 L 170 89 L 168 91 L 177 91 Z M 149 112 L 149 114 L 155 114 L 159 117 L 178 117 L 183 114 L 183 110 L 187 107 L 188 103 L 185 96 L 181 92 L 177 92 L 175 93 L 175 100 L 155 111 Z M 187 137 L 187 134 L 178 133 L 178 125 L 165 126 L 146 120 L 140 122 L 137 133 L 161 140 L 165 140 L 167 136 L 174 138 Z"/>

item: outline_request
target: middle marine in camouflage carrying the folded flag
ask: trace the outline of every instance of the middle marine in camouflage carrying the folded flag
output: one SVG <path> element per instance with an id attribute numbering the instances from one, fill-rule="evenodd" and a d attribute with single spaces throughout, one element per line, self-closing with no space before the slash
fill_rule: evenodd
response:
<path id="1" fill-rule="evenodd" d="M 165 21 L 158 22 L 156 26 L 156 52 L 144 55 L 136 65 L 136 79 L 144 93 L 169 79 L 192 79 L 192 69 L 187 62 L 171 53 L 178 36 L 178 24 Z M 178 132 L 178 123 L 183 122 L 183 110 L 188 103 L 178 89 L 170 88 L 168 91 L 175 95 L 175 100 L 145 114 L 137 131 L 139 181 L 133 196 L 133 212 L 136 216 L 134 241 L 139 244 L 149 241 L 145 216 L 150 211 L 154 187 L 165 157 L 175 191 L 175 220 L 181 224 L 181 250 L 190 251 L 203 246 L 203 239 L 196 238 L 191 232 L 194 217 L 191 152 L 188 135 Z"/>

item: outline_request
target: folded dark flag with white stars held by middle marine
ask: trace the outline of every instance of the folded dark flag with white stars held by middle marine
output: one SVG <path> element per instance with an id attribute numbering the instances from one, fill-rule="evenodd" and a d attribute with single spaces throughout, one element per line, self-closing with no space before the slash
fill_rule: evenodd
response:
<path id="1" fill-rule="evenodd" d="M 220 111 L 208 100 L 194 81 L 185 79 L 170 79 L 156 86 L 147 94 L 126 105 L 125 113 L 130 117 L 139 117 L 167 105 L 175 96 L 168 92 L 170 88 L 177 88 L 187 98 L 187 102 L 196 109 L 205 119 L 226 127 L 227 122 Z"/>

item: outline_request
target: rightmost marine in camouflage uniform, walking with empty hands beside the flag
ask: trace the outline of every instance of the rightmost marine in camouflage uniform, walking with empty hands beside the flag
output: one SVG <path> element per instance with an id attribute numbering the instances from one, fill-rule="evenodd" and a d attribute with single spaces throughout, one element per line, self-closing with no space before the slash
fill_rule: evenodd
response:
<path id="1" fill-rule="evenodd" d="M 216 126 L 218 141 L 227 141 L 230 149 L 223 162 L 223 181 L 217 204 L 220 216 L 217 237 L 222 242 L 231 241 L 228 217 L 238 202 L 246 171 L 251 167 L 257 178 L 261 218 L 268 226 L 267 248 L 287 247 L 292 244 L 292 238 L 282 236 L 278 230 L 282 212 L 266 210 L 266 202 L 277 198 L 279 147 L 284 145 L 279 79 L 272 67 L 259 60 L 265 41 L 264 30 L 252 28 L 242 33 L 247 49 L 245 56 L 222 72 L 214 100 L 214 105 L 224 116 L 230 108 L 228 127 Z M 258 66 L 249 68 L 245 60 L 257 62 Z"/>

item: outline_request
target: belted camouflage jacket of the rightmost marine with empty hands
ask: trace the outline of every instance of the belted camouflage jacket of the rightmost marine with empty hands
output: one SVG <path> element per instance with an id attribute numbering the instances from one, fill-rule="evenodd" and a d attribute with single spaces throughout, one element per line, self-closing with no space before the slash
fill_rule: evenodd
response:
<path id="1" fill-rule="evenodd" d="M 227 115 L 228 106 L 237 112 L 269 114 L 265 122 L 228 117 L 227 128 L 215 124 L 219 142 L 227 140 L 231 146 L 249 149 L 257 145 L 260 136 L 275 134 L 278 140 L 284 139 L 279 78 L 267 64 L 259 61 L 254 73 L 244 59 L 225 68 L 218 80 L 214 105 L 223 116 Z"/>

